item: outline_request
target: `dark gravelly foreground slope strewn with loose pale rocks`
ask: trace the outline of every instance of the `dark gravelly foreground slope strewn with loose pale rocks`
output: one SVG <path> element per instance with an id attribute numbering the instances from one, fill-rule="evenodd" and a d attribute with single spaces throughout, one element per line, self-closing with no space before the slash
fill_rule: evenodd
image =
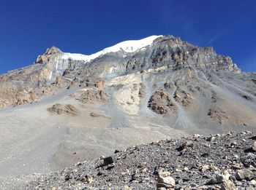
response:
<path id="1" fill-rule="evenodd" d="M 17 189 L 255 189 L 256 132 L 193 135 L 34 175 Z"/>

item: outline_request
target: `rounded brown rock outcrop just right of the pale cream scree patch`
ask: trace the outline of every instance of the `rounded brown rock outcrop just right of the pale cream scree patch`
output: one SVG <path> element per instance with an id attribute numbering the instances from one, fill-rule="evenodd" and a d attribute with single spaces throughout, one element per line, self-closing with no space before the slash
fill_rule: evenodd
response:
<path id="1" fill-rule="evenodd" d="M 148 101 L 148 108 L 151 108 L 157 114 L 167 114 L 176 111 L 176 106 L 170 100 L 165 90 L 157 90 Z"/>

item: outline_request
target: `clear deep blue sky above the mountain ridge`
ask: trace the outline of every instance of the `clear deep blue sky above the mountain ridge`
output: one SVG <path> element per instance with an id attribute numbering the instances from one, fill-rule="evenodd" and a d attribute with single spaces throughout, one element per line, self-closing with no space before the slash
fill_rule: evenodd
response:
<path id="1" fill-rule="evenodd" d="M 88 55 L 154 34 L 213 46 L 256 71 L 255 0 L 0 0 L 0 73 L 53 45 Z"/>

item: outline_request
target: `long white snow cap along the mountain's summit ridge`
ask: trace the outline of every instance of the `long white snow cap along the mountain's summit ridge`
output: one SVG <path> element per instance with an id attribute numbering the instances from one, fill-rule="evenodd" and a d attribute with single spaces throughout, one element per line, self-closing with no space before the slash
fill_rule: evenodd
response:
<path id="1" fill-rule="evenodd" d="M 113 45 L 112 47 L 107 47 L 104 50 L 101 50 L 91 55 L 83 55 L 78 53 L 63 53 L 61 55 L 61 58 L 71 60 L 83 60 L 87 63 L 90 60 L 94 60 L 100 55 L 105 55 L 109 52 L 118 52 L 120 50 L 124 50 L 124 52 L 136 52 L 137 50 L 140 50 L 141 48 L 152 44 L 153 41 L 159 37 L 160 36 L 149 36 L 145 39 L 122 41 L 121 43 Z"/>

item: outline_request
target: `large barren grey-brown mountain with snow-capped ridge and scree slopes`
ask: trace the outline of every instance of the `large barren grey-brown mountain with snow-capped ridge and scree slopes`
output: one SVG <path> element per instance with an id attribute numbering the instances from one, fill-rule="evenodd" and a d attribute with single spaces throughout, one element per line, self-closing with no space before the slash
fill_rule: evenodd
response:
<path id="1" fill-rule="evenodd" d="M 56 170 L 193 133 L 255 130 L 255 92 L 256 73 L 174 36 L 93 55 L 50 47 L 0 76 L 0 175 Z"/>

